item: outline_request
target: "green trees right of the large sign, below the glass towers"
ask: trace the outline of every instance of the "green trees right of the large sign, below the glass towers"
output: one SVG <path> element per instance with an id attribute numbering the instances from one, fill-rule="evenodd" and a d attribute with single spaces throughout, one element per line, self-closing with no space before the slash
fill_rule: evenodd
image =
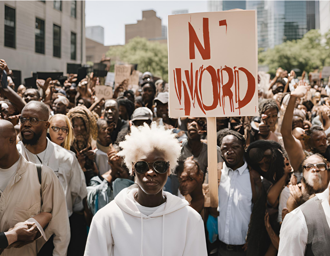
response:
<path id="1" fill-rule="evenodd" d="M 269 73 L 275 75 L 276 69 L 282 67 L 290 72 L 293 68 L 299 68 L 306 72 L 320 70 L 323 66 L 330 65 L 330 31 L 321 36 L 318 30 L 308 31 L 303 38 L 286 41 L 263 51 L 258 50 L 258 64 L 268 65 Z"/>

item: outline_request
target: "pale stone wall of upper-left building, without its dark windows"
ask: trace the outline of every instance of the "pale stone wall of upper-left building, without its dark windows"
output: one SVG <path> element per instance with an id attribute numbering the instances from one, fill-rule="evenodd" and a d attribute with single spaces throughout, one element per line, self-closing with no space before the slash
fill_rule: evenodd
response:
<path id="1" fill-rule="evenodd" d="M 5 5 L 16 10 L 16 49 L 4 46 Z M 53 1 L 0 1 L 0 56 L 10 69 L 21 70 L 22 81 L 31 71 L 66 73 L 67 63 L 85 63 L 85 3 L 76 2 L 76 18 L 71 17 L 71 1 L 62 1 L 62 11 Z M 35 52 L 36 18 L 45 21 L 45 54 Z M 61 26 L 61 57 L 53 57 L 53 24 Z M 71 32 L 76 33 L 76 60 L 71 60 Z"/>

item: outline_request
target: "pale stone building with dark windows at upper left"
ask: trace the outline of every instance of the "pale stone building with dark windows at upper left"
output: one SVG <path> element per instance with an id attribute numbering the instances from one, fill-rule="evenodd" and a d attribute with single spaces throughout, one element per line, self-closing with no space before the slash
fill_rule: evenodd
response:
<path id="1" fill-rule="evenodd" d="M 0 13 L 0 56 L 21 81 L 85 64 L 84 1 L 0 1 Z"/>

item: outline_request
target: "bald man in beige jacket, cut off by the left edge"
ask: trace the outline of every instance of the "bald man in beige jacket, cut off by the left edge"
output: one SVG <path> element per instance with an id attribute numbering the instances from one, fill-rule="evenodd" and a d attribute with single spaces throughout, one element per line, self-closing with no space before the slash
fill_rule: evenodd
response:
<path id="1" fill-rule="evenodd" d="M 70 227 L 61 184 L 46 165 L 42 165 L 39 183 L 36 164 L 18 152 L 15 128 L 6 120 L 0 120 L 0 193 L 0 232 L 40 212 L 52 213 L 45 230 L 35 221 L 41 236 L 33 237 L 31 243 L 21 248 L 5 249 L 3 256 L 36 256 L 53 234 L 63 243 L 57 247 L 56 255 L 66 255 L 65 241 L 70 239 Z"/>

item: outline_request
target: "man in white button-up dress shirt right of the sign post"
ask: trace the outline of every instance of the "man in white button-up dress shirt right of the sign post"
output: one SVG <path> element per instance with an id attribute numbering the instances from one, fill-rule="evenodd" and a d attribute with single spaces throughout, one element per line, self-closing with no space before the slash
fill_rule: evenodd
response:
<path id="1" fill-rule="evenodd" d="M 219 256 L 246 255 L 248 224 L 252 213 L 252 189 L 248 164 L 244 159 L 244 137 L 229 129 L 219 135 L 224 160 L 219 184 Z"/>

